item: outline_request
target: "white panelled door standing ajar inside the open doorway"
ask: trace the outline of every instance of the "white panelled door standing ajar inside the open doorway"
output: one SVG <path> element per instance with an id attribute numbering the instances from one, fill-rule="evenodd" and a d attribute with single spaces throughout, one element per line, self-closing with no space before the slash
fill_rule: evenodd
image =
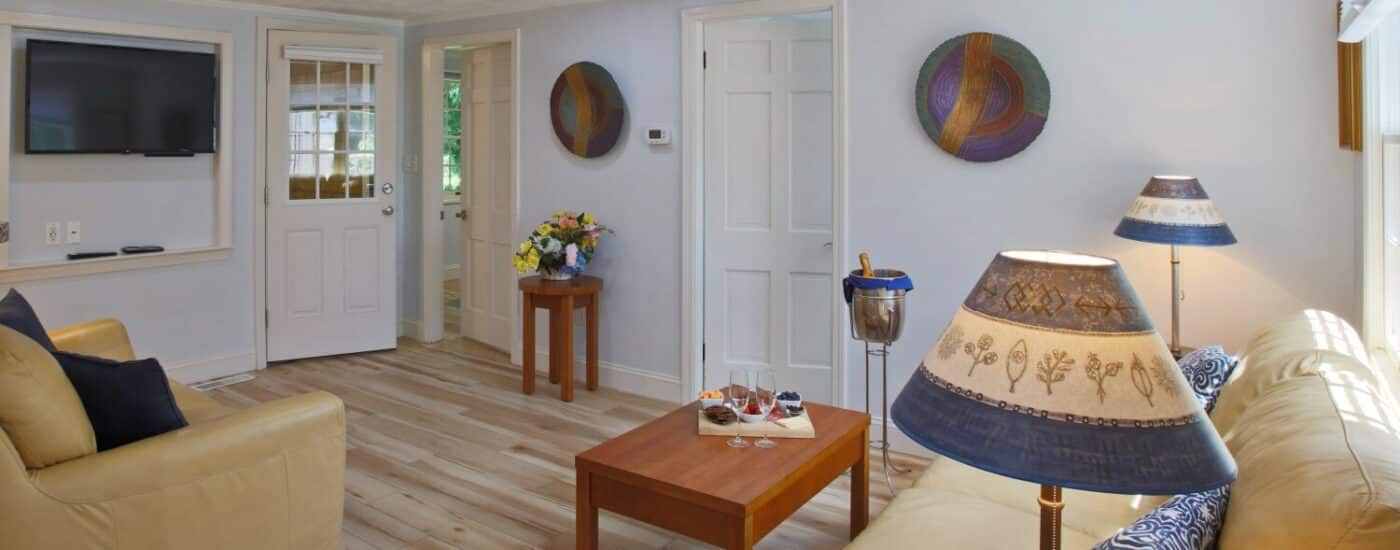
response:
<path id="1" fill-rule="evenodd" d="M 462 64 L 462 336 L 510 350 L 517 291 L 510 262 L 515 252 L 511 46 L 469 50 Z"/>

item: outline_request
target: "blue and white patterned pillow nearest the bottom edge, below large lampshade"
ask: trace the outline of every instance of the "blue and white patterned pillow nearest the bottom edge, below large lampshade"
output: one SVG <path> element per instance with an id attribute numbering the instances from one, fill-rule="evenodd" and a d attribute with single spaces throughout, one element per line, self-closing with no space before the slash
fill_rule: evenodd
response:
<path id="1" fill-rule="evenodd" d="M 1093 550 L 1201 550 L 1214 549 L 1225 522 L 1229 487 L 1179 494 L 1151 514 L 1123 528 Z"/>

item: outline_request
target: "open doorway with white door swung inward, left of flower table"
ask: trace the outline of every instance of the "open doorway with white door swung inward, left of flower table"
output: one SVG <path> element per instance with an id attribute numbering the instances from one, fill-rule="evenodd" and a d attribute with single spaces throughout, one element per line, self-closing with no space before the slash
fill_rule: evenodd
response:
<path id="1" fill-rule="evenodd" d="M 423 339 L 512 351 L 517 34 L 431 39 L 423 74 Z"/>

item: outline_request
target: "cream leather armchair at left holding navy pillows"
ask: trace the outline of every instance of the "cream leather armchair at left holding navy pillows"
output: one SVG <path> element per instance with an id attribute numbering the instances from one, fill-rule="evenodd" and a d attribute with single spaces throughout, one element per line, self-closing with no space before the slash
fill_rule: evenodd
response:
<path id="1" fill-rule="evenodd" d="M 126 329 L 50 334 L 130 360 Z M 344 407 L 311 393 L 231 410 L 171 382 L 189 427 L 95 452 L 92 427 L 39 344 L 0 327 L 0 549 L 336 549 Z"/>

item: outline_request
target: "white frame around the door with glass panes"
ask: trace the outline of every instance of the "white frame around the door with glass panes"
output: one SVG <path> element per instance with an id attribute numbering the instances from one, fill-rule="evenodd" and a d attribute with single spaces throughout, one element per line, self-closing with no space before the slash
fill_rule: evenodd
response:
<path id="1" fill-rule="evenodd" d="M 344 24 L 258 17 L 258 59 L 253 70 L 253 353 L 255 367 L 259 369 L 267 368 L 267 32 L 382 32 L 393 35 L 400 48 L 403 42 L 402 21 L 354 15 L 335 15 L 335 20 Z M 402 84 L 399 88 L 402 90 Z M 402 94 L 399 112 L 403 112 Z M 399 126 L 402 129 L 403 125 Z M 402 158 L 403 151 L 399 155 Z M 402 167 L 403 162 L 398 164 Z M 402 182 L 400 167 L 395 167 L 395 178 Z M 395 203 L 402 204 L 402 199 Z"/>

